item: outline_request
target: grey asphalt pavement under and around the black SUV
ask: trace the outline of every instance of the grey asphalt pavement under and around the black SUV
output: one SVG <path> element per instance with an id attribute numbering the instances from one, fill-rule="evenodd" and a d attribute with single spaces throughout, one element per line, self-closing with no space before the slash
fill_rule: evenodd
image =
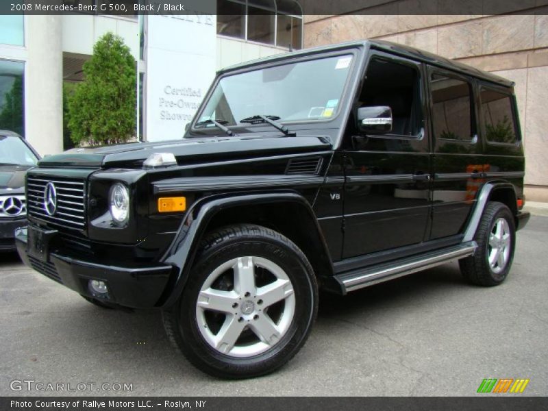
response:
<path id="1" fill-rule="evenodd" d="M 547 395 L 547 243 L 548 217 L 532 217 L 495 288 L 466 284 L 453 263 L 322 295 L 300 353 L 245 381 L 197 371 L 160 312 L 97 308 L 2 254 L 0 395 L 470 396 L 484 378 L 530 379 L 521 395 Z"/>

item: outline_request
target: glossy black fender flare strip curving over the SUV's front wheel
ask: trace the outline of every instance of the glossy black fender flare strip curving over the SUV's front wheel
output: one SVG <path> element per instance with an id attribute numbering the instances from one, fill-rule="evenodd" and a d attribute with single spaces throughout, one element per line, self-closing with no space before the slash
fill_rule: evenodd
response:
<path id="1" fill-rule="evenodd" d="M 174 267 L 174 279 L 164 291 L 164 295 L 158 306 L 169 308 L 173 306 L 179 295 L 181 295 L 192 264 L 199 251 L 199 244 L 211 219 L 222 210 L 238 206 L 258 205 L 267 203 L 298 203 L 304 207 L 316 225 L 316 235 L 321 239 L 324 251 L 329 256 L 325 238 L 321 234 L 321 228 L 310 203 L 296 192 L 266 192 L 256 194 L 238 194 L 229 196 L 206 197 L 193 204 L 186 213 L 177 234 L 171 243 L 168 251 L 164 254 L 162 262 L 171 264 Z M 331 258 L 329 258 L 331 260 Z"/>

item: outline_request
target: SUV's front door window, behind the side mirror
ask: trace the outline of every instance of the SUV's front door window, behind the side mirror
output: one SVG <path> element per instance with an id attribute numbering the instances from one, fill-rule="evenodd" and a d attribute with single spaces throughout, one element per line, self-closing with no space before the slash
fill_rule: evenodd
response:
<path id="1" fill-rule="evenodd" d="M 391 134 L 412 137 L 421 131 L 420 77 L 412 66 L 373 58 L 358 100 L 358 107 L 388 105 L 392 109 Z"/>

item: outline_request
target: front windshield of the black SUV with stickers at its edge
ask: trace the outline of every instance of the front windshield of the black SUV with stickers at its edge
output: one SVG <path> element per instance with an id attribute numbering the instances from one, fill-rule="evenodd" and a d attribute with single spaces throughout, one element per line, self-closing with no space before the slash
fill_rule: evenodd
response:
<path id="1" fill-rule="evenodd" d="M 198 122 L 231 126 L 257 115 L 280 122 L 329 119 L 337 113 L 352 58 L 338 55 L 223 77 Z"/>

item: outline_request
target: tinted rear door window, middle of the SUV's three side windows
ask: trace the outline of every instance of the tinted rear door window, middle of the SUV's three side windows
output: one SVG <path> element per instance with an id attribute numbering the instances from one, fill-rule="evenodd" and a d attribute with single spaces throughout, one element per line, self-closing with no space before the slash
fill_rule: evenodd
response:
<path id="1" fill-rule="evenodd" d="M 471 85 L 456 77 L 433 73 L 430 90 L 434 136 L 445 140 L 472 140 Z"/>

